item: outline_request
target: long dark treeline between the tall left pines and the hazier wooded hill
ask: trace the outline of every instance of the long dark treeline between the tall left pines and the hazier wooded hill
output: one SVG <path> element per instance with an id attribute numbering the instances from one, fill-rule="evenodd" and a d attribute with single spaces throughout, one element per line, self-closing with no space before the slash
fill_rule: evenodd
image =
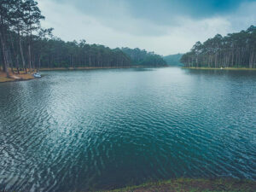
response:
<path id="1" fill-rule="evenodd" d="M 38 49 L 40 67 L 130 67 L 131 59 L 120 49 L 109 49 L 103 45 L 64 42 L 60 38 L 41 39 Z M 44 46 L 42 47 L 42 45 Z M 41 46 L 41 47 L 39 47 Z"/>

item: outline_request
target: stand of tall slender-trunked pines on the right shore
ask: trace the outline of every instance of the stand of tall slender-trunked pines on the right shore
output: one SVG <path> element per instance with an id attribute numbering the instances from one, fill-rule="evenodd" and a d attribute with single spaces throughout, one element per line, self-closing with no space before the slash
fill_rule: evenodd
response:
<path id="1" fill-rule="evenodd" d="M 256 67 L 256 26 L 197 42 L 181 62 L 185 67 Z"/>

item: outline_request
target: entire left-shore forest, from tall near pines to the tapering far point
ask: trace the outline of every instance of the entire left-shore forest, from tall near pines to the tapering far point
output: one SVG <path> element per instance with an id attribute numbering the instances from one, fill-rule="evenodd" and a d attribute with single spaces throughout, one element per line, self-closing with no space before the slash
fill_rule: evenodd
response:
<path id="1" fill-rule="evenodd" d="M 65 42 L 44 29 L 44 20 L 34 0 L 1 0 L 0 67 L 9 74 L 40 67 L 160 67 L 166 62 L 152 52 L 141 49 L 110 49 L 103 45 Z"/>

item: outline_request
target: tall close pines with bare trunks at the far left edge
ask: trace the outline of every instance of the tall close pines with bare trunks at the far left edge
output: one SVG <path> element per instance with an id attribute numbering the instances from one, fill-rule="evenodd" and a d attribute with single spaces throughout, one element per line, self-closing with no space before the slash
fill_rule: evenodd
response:
<path id="1" fill-rule="evenodd" d="M 37 2 L 0 0 L 0 61 L 7 76 L 9 67 L 32 70 L 33 33 L 41 31 L 40 20 L 44 20 L 44 16 L 41 15 Z"/>

